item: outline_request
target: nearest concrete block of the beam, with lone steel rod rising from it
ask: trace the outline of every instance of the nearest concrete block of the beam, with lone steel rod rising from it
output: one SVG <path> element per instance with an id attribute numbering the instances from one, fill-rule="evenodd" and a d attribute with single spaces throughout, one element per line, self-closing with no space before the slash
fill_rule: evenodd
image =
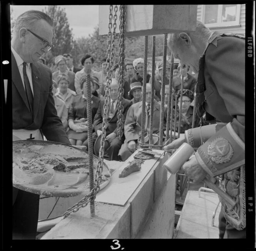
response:
<path id="1" fill-rule="evenodd" d="M 59 222 L 42 239 L 104 239 L 111 234 L 115 226 L 116 229 L 113 233 L 117 234 L 116 237 L 130 237 L 129 205 L 121 207 L 95 202 L 95 215 L 91 218 L 90 205 L 88 204 L 88 206 L 80 208 L 79 211 L 71 213 Z M 117 232 L 118 230 L 120 234 Z"/>

